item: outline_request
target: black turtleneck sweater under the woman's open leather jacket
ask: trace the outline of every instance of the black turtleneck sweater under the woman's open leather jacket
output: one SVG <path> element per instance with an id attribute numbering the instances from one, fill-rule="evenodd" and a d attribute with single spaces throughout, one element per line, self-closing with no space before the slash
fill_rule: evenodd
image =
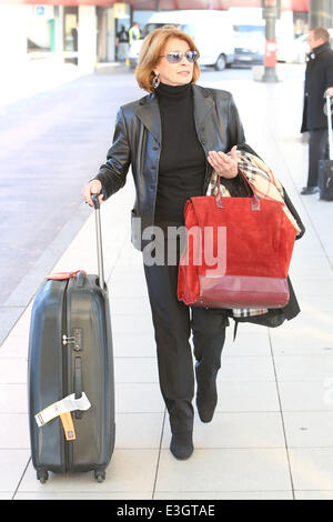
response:
<path id="1" fill-rule="evenodd" d="M 155 223 L 184 223 L 188 199 L 203 195 L 205 153 L 194 124 L 192 84 L 155 89 L 162 124 L 162 150 Z"/>

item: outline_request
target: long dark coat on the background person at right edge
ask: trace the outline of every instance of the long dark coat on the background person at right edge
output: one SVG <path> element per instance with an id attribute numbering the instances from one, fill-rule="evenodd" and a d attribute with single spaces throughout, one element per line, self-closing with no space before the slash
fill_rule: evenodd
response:
<path id="1" fill-rule="evenodd" d="M 329 87 L 333 87 L 333 50 L 326 42 L 307 56 L 301 132 L 327 129 L 324 92 Z"/>

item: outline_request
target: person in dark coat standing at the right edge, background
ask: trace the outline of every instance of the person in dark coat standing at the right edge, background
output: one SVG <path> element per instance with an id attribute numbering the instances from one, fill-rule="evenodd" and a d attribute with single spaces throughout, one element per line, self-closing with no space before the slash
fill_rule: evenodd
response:
<path id="1" fill-rule="evenodd" d="M 319 160 L 327 159 L 327 118 L 324 111 L 327 90 L 333 97 L 333 51 L 330 33 L 322 27 L 310 29 L 305 71 L 304 107 L 301 132 L 309 131 L 309 173 L 307 184 L 301 194 L 317 192 Z"/>

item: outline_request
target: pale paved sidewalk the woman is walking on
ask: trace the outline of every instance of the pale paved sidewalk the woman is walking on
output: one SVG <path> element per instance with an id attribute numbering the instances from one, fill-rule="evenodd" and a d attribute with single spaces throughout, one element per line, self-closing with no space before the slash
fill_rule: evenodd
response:
<path id="1" fill-rule="evenodd" d="M 161 399 L 141 253 L 130 244 L 132 180 L 102 205 L 115 357 L 115 450 L 92 473 L 36 480 L 30 462 L 27 348 L 31 303 L 0 348 L 0 499 L 333 499 L 333 205 L 300 197 L 307 147 L 299 134 L 302 78 L 206 83 L 234 93 L 248 142 L 285 185 L 306 227 L 291 279 L 302 313 L 273 330 L 232 331 L 213 421 L 195 412 L 195 451 L 176 461 Z M 93 213 L 54 271 L 95 272 Z"/>

